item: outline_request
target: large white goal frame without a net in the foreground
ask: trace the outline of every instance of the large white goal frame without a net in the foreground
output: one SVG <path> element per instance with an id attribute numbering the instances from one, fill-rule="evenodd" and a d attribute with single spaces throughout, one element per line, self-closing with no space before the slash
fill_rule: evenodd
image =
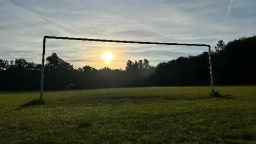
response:
<path id="1" fill-rule="evenodd" d="M 77 37 L 59 37 L 59 36 L 44 36 L 43 38 L 43 53 L 42 53 L 42 71 L 41 71 L 41 89 L 39 101 L 43 101 L 43 89 L 44 89 L 44 62 L 45 62 L 45 45 L 46 38 L 48 39 L 63 39 L 73 41 L 91 41 L 91 42 L 108 42 L 108 43 L 130 43 L 130 44 L 153 44 L 153 45 L 183 45 L 183 46 L 206 46 L 209 51 L 209 63 L 210 63 L 210 76 L 211 76 L 211 94 L 214 93 L 213 86 L 213 73 L 212 73 L 212 58 L 211 58 L 211 45 L 207 44 L 189 44 L 189 43 L 161 43 L 161 42 L 139 42 L 139 41 L 117 41 L 108 39 L 92 39 L 92 38 L 77 38 Z"/>

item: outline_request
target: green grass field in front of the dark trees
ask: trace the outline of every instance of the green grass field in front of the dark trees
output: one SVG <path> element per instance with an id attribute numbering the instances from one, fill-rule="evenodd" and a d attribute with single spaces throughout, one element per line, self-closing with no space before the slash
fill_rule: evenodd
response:
<path id="1" fill-rule="evenodd" d="M 256 86 L 0 93 L 0 143 L 256 143 Z M 231 96 L 232 95 L 232 96 Z"/>

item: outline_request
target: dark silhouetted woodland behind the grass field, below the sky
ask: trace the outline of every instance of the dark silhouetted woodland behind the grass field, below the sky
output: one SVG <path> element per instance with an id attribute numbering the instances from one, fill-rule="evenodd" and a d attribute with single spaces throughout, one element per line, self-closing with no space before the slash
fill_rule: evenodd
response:
<path id="1" fill-rule="evenodd" d="M 256 84 L 256 36 L 230 42 L 220 40 L 212 51 L 215 85 Z M 25 59 L 0 59 L 0 91 L 39 90 L 41 64 Z M 161 62 L 156 67 L 149 61 L 126 62 L 125 70 L 90 66 L 74 68 L 71 63 L 52 53 L 46 58 L 44 89 L 65 90 L 67 84 L 84 84 L 85 89 L 137 86 L 210 85 L 208 52 Z M 79 87 L 79 86 L 77 86 Z M 82 86 L 80 87 L 82 88 Z"/>

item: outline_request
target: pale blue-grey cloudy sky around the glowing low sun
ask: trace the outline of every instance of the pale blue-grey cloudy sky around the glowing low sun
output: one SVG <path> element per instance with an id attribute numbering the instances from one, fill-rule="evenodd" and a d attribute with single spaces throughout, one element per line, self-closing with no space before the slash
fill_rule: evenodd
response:
<path id="1" fill-rule="evenodd" d="M 42 61 L 43 36 L 198 43 L 212 48 L 256 32 L 255 0 L 0 0 L 0 59 Z M 46 40 L 75 67 L 124 68 L 127 60 L 159 62 L 207 47 Z M 111 52 L 114 60 L 101 59 Z"/>

